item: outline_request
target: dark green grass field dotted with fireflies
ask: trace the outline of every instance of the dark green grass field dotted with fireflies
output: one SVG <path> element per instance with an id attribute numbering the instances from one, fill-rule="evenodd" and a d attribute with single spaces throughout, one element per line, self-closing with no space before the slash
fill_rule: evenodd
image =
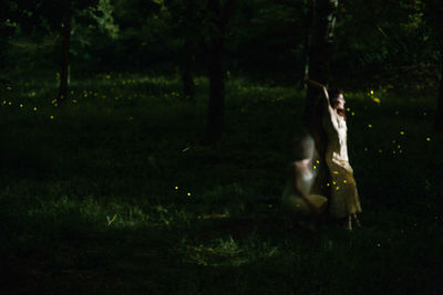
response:
<path id="1" fill-rule="evenodd" d="M 65 102 L 56 77 L 2 86 L 2 294 L 443 292 L 433 97 L 346 94 L 364 228 L 311 234 L 279 211 L 303 92 L 231 78 L 225 137 L 206 147 L 196 82 L 194 103 L 142 74 L 73 81 Z"/>

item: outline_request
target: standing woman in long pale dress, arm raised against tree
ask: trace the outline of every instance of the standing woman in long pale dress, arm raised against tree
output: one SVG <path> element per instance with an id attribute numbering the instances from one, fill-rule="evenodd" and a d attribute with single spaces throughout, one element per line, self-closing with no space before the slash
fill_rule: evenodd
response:
<path id="1" fill-rule="evenodd" d="M 328 138 L 324 159 L 330 172 L 328 186 L 331 187 L 329 212 L 337 219 L 348 218 L 347 228 L 352 230 L 352 221 L 357 226 L 360 226 L 357 213 L 361 212 L 361 206 L 353 170 L 348 158 L 346 101 L 341 92 L 331 91 L 328 93 L 324 85 L 311 80 L 307 81 L 323 91 L 322 126 Z"/>

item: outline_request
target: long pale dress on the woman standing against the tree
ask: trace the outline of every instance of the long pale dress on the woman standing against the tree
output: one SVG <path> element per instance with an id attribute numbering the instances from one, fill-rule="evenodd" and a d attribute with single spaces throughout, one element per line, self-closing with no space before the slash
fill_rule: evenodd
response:
<path id="1" fill-rule="evenodd" d="M 330 171 L 328 186 L 331 187 L 329 212 L 334 218 L 344 218 L 361 212 L 361 206 L 353 170 L 349 165 L 346 119 L 330 106 L 329 99 L 326 103 L 328 110 L 322 125 L 328 137 L 326 162 Z"/>

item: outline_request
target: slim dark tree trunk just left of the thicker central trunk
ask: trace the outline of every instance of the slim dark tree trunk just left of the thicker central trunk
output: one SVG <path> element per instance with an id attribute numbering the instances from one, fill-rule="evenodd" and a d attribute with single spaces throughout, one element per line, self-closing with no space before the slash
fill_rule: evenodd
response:
<path id="1" fill-rule="evenodd" d="M 195 44 L 194 40 L 188 35 L 185 36 L 185 56 L 183 61 L 183 94 L 186 99 L 194 101 L 195 83 L 193 76 L 193 67 L 195 60 Z"/>

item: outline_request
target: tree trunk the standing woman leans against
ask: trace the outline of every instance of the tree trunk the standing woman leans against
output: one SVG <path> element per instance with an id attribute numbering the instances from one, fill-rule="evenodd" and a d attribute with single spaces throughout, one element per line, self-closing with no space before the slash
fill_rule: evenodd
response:
<path id="1" fill-rule="evenodd" d="M 337 9 L 338 0 L 316 0 L 312 44 L 310 46 L 308 66 L 309 78 L 323 85 L 327 85 L 330 73 Z M 329 172 L 324 161 L 327 138 L 321 125 L 323 102 L 320 99 L 320 95 L 319 89 L 308 86 L 305 125 L 316 140 L 316 149 L 320 160 L 316 187 L 320 189 L 319 192 L 329 196 L 326 186 Z"/>

